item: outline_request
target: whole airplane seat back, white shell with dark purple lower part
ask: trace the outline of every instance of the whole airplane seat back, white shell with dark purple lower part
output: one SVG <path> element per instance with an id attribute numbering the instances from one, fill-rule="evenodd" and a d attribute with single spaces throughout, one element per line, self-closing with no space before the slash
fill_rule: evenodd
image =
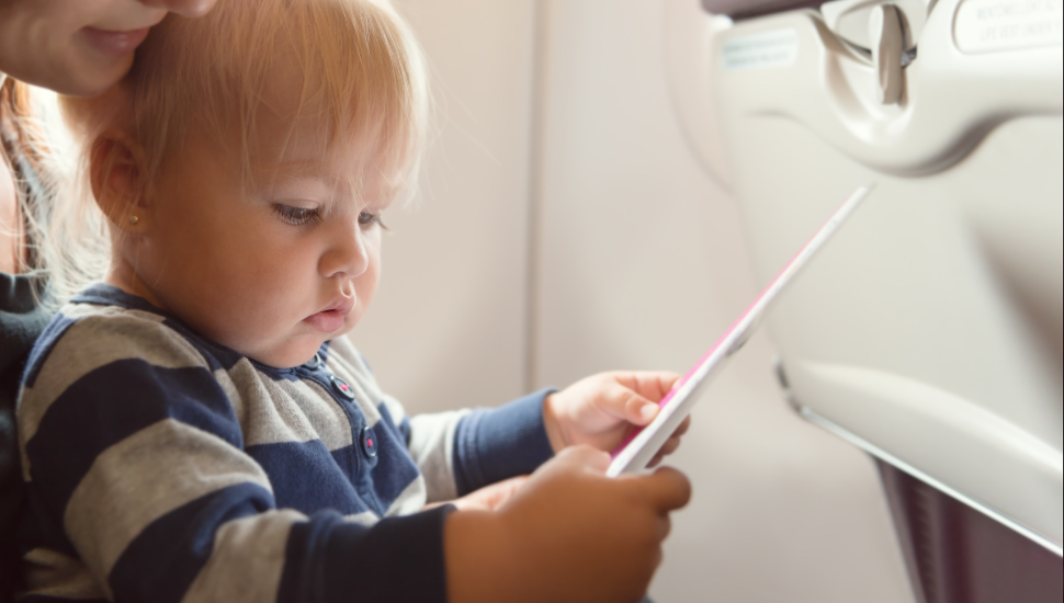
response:
<path id="1" fill-rule="evenodd" d="M 1062 0 L 702 4 L 675 102 L 760 282 L 878 184 L 769 320 L 789 398 L 879 459 L 918 601 L 1061 600 Z"/>

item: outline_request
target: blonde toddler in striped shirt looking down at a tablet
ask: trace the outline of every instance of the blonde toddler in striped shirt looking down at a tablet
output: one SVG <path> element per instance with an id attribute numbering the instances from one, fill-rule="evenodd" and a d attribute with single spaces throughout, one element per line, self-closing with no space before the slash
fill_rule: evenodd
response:
<path id="1" fill-rule="evenodd" d="M 55 288 L 94 251 L 109 268 L 23 378 L 26 601 L 642 596 L 688 485 L 607 479 L 602 451 L 676 375 L 408 417 L 342 337 L 426 96 L 382 1 L 227 0 L 154 29 L 111 93 L 64 100 L 91 195 L 56 216 L 82 234 L 48 242 L 80 262 Z"/>

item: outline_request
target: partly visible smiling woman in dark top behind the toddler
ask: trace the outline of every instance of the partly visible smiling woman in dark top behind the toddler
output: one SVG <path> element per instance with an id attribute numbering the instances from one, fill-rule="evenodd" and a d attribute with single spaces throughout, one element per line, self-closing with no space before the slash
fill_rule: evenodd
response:
<path id="1" fill-rule="evenodd" d="M 0 603 L 18 587 L 9 550 L 22 497 L 14 399 L 25 356 L 48 321 L 41 305 L 48 265 L 34 252 L 34 232 L 48 215 L 49 150 L 26 83 L 100 94 L 125 76 L 148 29 L 168 12 L 199 16 L 214 3 L 0 0 Z"/>

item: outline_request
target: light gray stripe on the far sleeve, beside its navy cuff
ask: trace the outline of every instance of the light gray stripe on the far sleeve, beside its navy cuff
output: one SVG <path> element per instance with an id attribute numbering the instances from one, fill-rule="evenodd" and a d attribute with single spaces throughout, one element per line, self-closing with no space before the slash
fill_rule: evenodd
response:
<path id="1" fill-rule="evenodd" d="M 469 410 L 418 414 L 410 419 L 410 456 L 425 476 L 428 502 L 452 500 L 459 494 L 454 481 L 454 432 Z"/>

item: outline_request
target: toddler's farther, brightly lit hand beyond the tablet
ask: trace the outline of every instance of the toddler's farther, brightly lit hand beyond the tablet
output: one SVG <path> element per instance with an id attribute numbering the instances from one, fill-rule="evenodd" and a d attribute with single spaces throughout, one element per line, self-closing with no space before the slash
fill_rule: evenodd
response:
<path id="1" fill-rule="evenodd" d="M 556 453 L 578 444 L 613 451 L 632 425 L 646 425 L 657 417 L 657 403 L 679 378 L 667 371 L 615 371 L 591 375 L 547 396 L 543 422 L 551 446 Z M 690 423 L 690 417 L 683 420 L 650 460 L 650 467 L 679 447 Z"/>

